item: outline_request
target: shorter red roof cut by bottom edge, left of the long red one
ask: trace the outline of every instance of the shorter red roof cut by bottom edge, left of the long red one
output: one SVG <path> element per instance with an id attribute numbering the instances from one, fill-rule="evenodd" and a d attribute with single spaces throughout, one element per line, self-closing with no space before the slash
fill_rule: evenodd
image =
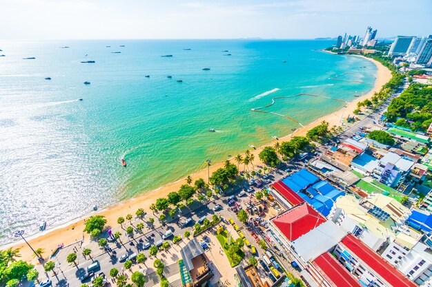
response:
<path id="1" fill-rule="evenodd" d="M 326 252 L 313 260 L 312 265 L 320 270 L 321 275 L 328 283 L 335 287 L 359 287 L 361 286 L 351 273 L 349 273 L 336 259 Z"/>

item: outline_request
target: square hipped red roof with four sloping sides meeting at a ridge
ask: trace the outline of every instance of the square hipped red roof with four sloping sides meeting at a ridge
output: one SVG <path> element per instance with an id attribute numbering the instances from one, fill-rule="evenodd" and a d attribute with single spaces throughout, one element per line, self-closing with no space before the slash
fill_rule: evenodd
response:
<path id="1" fill-rule="evenodd" d="M 275 217 L 272 222 L 289 241 L 293 242 L 298 237 L 326 222 L 326 219 L 315 211 L 312 206 L 305 203 Z"/>

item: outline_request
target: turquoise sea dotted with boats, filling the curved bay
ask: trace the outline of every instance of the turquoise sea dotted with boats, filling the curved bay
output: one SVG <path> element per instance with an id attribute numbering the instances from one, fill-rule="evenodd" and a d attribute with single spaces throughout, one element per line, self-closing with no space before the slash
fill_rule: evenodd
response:
<path id="1" fill-rule="evenodd" d="M 331 44 L 0 42 L 0 242 L 18 228 L 36 233 L 43 220 L 67 222 L 93 204 L 108 206 L 183 178 L 206 159 L 219 162 L 291 133 L 293 121 L 251 111 L 274 96 L 349 101 L 368 92 L 375 65 L 316 51 Z M 90 60 L 96 63 L 80 63 Z M 343 105 L 301 96 L 266 110 L 305 125 Z"/>

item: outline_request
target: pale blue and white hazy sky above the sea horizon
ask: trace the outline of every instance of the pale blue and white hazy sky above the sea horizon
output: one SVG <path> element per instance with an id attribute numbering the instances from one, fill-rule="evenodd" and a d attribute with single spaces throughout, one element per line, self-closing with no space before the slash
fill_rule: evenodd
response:
<path id="1" fill-rule="evenodd" d="M 424 36 L 431 15 L 431 0 L 0 0 L 0 39 Z"/>

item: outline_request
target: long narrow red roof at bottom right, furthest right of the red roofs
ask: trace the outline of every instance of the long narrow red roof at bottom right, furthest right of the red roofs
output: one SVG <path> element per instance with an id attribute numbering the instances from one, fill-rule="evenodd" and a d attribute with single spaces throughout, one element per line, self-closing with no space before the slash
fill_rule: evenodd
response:
<path id="1" fill-rule="evenodd" d="M 382 277 L 391 286 L 404 286 L 404 287 L 416 287 L 413 281 L 403 275 L 395 267 L 391 266 L 389 262 L 386 262 L 384 258 L 377 255 L 375 251 L 366 246 L 354 235 L 346 235 L 341 241 L 342 244 L 348 249 L 348 252 L 355 254 L 364 264 L 369 266 L 371 270 L 374 270 L 377 275 Z"/>

